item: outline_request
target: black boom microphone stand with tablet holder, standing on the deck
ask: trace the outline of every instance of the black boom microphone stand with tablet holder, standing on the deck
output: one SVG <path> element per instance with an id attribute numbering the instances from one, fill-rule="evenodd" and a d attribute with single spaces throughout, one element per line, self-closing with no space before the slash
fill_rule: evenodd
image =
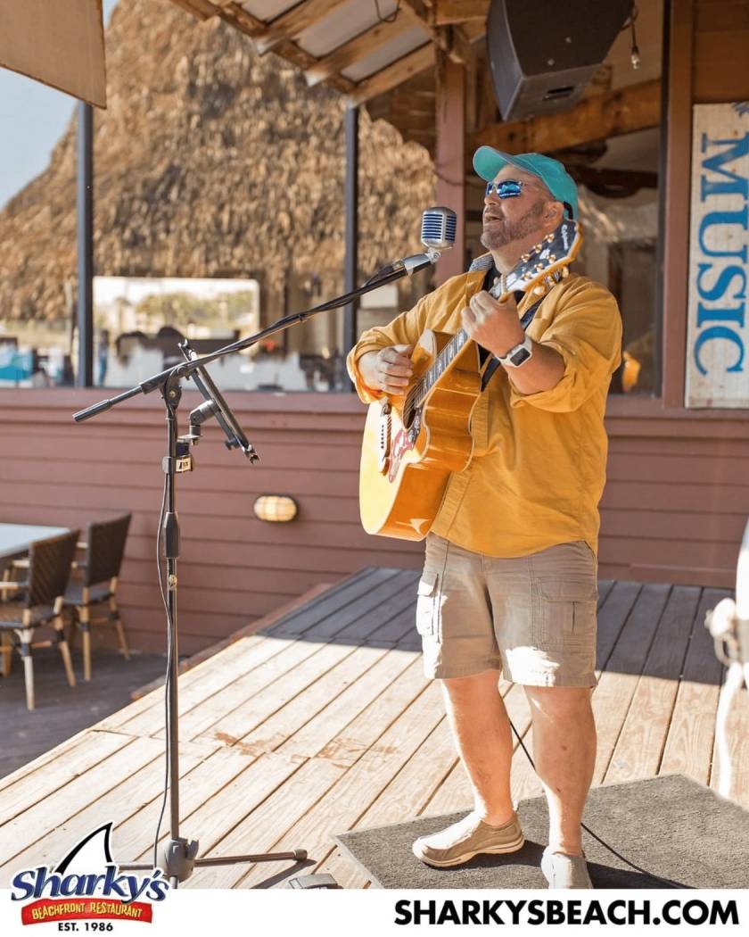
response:
<path id="1" fill-rule="evenodd" d="M 166 475 L 165 507 L 163 524 L 163 557 L 167 561 L 167 625 L 169 636 L 169 666 L 167 673 L 167 752 L 169 758 L 169 840 L 162 848 L 162 868 L 165 877 L 169 878 L 171 887 L 177 887 L 190 877 L 196 866 L 231 865 L 238 862 L 274 862 L 279 860 L 294 860 L 303 862 L 307 858 L 307 851 L 295 849 L 287 853 L 260 853 L 249 855 L 203 856 L 198 858 L 198 840 L 187 840 L 180 836 L 180 772 L 179 772 L 179 717 L 177 701 L 178 654 L 177 654 L 177 559 L 180 555 L 180 528 L 176 509 L 176 476 L 180 472 L 192 471 L 194 468 L 190 446 L 198 442 L 200 424 L 210 416 L 216 416 L 227 434 L 227 446 L 239 447 L 251 460 L 256 461 L 258 456 L 253 446 L 247 441 L 228 403 L 213 384 L 206 364 L 216 361 L 225 355 L 233 354 L 242 349 L 257 344 L 268 335 L 274 335 L 287 329 L 296 322 L 303 322 L 319 312 L 329 309 L 338 309 L 371 290 L 376 290 L 385 283 L 411 276 L 418 270 L 431 266 L 439 258 L 439 252 L 432 247 L 426 254 L 416 254 L 412 257 L 398 260 L 375 275 L 374 282 L 368 283 L 356 290 L 351 290 L 343 296 L 329 300 L 327 303 L 316 305 L 303 312 L 294 313 L 280 319 L 267 328 L 250 335 L 240 341 L 232 342 L 222 349 L 211 354 L 198 357 L 185 341 L 180 345 L 185 358 L 184 362 L 154 374 L 151 378 L 140 381 L 135 387 L 117 394 L 106 400 L 100 400 L 91 407 L 79 410 L 73 414 L 76 423 L 83 423 L 92 417 L 103 413 L 118 404 L 129 400 L 137 394 L 150 394 L 158 390 L 161 394 L 167 411 L 167 454 L 162 460 L 162 468 Z M 178 436 L 177 408 L 182 398 L 181 380 L 193 377 L 206 402 L 198 406 L 190 414 L 190 432 L 183 437 Z M 127 863 L 120 866 L 124 870 L 151 870 L 153 866 L 140 863 Z"/>

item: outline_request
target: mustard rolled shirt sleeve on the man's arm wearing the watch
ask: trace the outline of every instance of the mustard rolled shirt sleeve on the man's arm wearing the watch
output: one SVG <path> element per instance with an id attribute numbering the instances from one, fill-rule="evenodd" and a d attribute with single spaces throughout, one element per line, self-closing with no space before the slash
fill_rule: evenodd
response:
<path id="1" fill-rule="evenodd" d="M 622 361 L 622 317 L 616 300 L 599 285 L 590 287 L 558 310 L 538 339 L 540 345 L 558 351 L 565 362 L 562 378 L 547 391 L 521 394 L 509 372 L 511 407 L 531 406 L 565 413 L 609 385 Z"/>

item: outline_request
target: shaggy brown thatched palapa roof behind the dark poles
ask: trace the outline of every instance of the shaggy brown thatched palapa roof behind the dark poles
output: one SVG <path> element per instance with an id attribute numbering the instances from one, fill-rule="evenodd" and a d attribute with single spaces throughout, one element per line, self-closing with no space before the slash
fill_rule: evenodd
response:
<path id="1" fill-rule="evenodd" d="M 340 288 L 345 102 L 308 88 L 226 22 L 121 0 L 107 32 L 108 110 L 95 112 L 95 272 L 258 276 Z M 75 118 L 50 166 L 0 212 L 0 320 L 66 315 L 76 274 Z M 360 121 L 360 269 L 418 249 L 431 160 Z M 415 243 L 416 242 L 416 243 Z"/>

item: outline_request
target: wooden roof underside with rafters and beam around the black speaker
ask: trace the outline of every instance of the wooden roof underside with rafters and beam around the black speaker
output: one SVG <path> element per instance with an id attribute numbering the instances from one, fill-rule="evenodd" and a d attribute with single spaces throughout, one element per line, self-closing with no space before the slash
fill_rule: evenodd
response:
<path id="1" fill-rule="evenodd" d="M 275 52 L 324 82 L 404 140 L 434 156 L 438 60 L 466 69 L 465 131 L 471 146 L 491 142 L 510 152 L 568 153 L 585 141 L 657 126 L 660 105 L 661 0 L 638 20 L 642 67 L 629 64 L 620 34 L 606 63 L 571 112 L 512 123 L 496 109 L 485 52 L 490 0 L 172 0 L 201 20 L 219 17 L 250 37 L 260 54 Z M 589 161 L 585 156 L 583 161 Z M 470 166 L 466 167 L 471 174 Z"/>

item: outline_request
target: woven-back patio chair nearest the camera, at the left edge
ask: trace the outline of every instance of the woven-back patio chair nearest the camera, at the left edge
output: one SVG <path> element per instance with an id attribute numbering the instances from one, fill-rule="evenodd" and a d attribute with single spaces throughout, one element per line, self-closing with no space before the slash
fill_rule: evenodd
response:
<path id="1" fill-rule="evenodd" d="M 34 709 L 34 662 L 35 647 L 56 645 L 65 664 L 67 682 L 76 685 L 70 650 L 65 639 L 63 602 L 70 576 L 70 567 L 76 552 L 80 531 L 73 530 L 60 537 L 39 540 L 29 549 L 28 578 L 24 581 L 0 582 L 0 633 L 9 636 L 0 646 L 3 655 L 3 672 L 7 673 L 6 660 L 18 650 L 23 661 L 23 676 L 26 685 L 26 706 Z M 46 641 L 34 641 L 34 632 L 43 625 L 54 629 L 54 636 Z"/>

